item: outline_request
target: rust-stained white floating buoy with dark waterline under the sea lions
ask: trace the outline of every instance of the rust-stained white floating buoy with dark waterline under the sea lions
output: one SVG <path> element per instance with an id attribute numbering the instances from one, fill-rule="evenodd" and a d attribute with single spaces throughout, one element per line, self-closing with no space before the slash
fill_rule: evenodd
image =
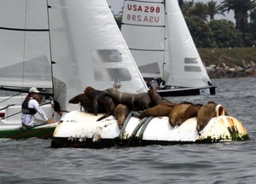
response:
<path id="1" fill-rule="evenodd" d="M 113 116 L 96 122 L 101 116 L 78 111 L 67 113 L 56 126 L 51 147 L 136 147 L 248 139 L 243 124 L 230 116 L 212 118 L 200 133 L 196 130 L 196 118 L 172 128 L 167 117 L 140 120 L 131 116 L 119 129 Z"/>

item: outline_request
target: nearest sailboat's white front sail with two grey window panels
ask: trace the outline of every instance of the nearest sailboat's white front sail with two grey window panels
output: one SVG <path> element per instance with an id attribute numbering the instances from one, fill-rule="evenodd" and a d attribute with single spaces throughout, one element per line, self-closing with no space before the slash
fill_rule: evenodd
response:
<path id="1" fill-rule="evenodd" d="M 53 75 L 65 83 L 67 99 L 86 86 L 147 90 L 104 0 L 49 1 L 49 27 Z"/>

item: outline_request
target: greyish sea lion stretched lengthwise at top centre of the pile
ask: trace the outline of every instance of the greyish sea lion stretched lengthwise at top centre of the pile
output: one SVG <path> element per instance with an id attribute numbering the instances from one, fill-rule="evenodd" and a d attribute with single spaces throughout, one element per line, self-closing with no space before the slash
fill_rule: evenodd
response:
<path id="1" fill-rule="evenodd" d="M 148 93 L 123 93 L 115 88 L 107 89 L 106 93 L 110 95 L 117 104 L 125 104 L 129 106 L 131 110 L 143 110 L 148 108 L 151 103 L 151 98 Z"/>

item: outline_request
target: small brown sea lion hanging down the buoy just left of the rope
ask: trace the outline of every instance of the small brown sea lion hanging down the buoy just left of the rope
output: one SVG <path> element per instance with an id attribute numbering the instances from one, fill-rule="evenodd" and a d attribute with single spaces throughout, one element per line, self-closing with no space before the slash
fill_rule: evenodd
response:
<path id="1" fill-rule="evenodd" d="M 128 106 L 125 106 L 124 104 L 119 104 L 114 108 L 113 117 L 117 119 L 119 129 L 123 127 L 125 118 L 127 118 L 130 112 L 130 108 Z"/>

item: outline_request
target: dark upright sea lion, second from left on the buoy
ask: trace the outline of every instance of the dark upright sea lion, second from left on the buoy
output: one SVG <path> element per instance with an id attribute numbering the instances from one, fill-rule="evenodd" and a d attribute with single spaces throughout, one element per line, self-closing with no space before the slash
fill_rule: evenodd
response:
<path id="1" fill-rule="evenodd" d="M 113 114 L 113 110 L 116 105 L 113 99 L 110 96 L 106 95 L 105 91 L 97 90 L 88 86 L 84 89 L 84 94 L 92 99 L 93 112 L 95 113 L 95 115 L 97 115 L 98 113 L 98 110 L 100 108 L 99 106 L 102 106 L 102 108 L 107 113 L 101 118 L 97 119 L 97 121 L 100 121 L 103 118 L 107 118 L 108 116 Z"/>

